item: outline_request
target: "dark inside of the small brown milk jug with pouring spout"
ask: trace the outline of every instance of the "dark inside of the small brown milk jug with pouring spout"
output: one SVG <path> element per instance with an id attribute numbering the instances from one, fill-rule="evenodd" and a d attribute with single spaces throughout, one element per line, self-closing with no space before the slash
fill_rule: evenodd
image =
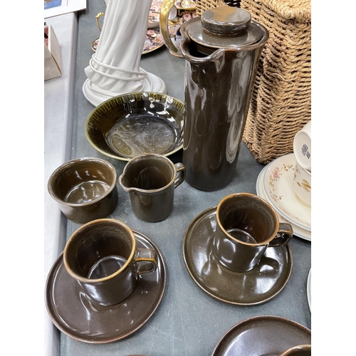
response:
<path id="1" fill-rule="evenodd" d="M 122 184 L 127 188 L 155 190 L 166 187 L 174 179 L 174 166 L 165 157 L 145 155 L 125 167 Z"/>

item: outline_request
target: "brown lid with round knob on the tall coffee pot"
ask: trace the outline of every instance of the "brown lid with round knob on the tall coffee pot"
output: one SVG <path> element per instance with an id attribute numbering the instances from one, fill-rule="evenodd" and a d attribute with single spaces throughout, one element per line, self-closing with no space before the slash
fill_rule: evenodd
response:
<path id="1" fill-rule="evenodd" d="M 216 50 L 249 46 L 263 37 L 261 28 L 251 21 L 248 11 L 232 6 L 204 11 L 201 21 L 193 23 L 188 34 L 192 41 L 200 45 L 200 51 L 205 52 L 205 48 L 209 53 L 211 48 Z"/>

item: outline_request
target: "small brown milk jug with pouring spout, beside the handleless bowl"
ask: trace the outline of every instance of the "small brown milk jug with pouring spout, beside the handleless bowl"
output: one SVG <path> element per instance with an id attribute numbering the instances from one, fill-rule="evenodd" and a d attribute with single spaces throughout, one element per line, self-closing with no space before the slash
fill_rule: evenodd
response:
<path id="1" fill-rule="evenodd" d="M 135 215 L 144 221 L 157 222 L 172 213 L 174 189 L 185 179 L 182 163 L 173 164 L 165 156 L 154 153 L 132 158 L 119 177 Z"/>

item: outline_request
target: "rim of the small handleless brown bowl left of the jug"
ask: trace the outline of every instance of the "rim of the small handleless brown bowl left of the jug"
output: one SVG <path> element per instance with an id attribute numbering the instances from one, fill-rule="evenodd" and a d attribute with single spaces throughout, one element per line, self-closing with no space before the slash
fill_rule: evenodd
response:
<path id="1" fill-rule="evenodd" d="M 110 188 L 108 189 L 107 192 L 105 192 L 103 195 L 101 195 L 100 197 L 98 197 L 97 199 L 93 199 L 93 200 L 90 200 L 90 201 L 87 201 L 85 203 L 68 203 L 67 201 L 64 201 L 64 200 L 61 200 L 61 199 L 58 199 L 58 197 L 56 197 L 56 195 L 53 193 L 53 189 L 51 187 L 51 183 L 52 183 L 52 180 L 54 178 L 54 176 L 57 174 L 57 172 L 59 172 L 61 169 L 67 167 L 67 166 L 70 166 L 70 164 L 75 164 L 75 163 L 78 163 L 78 162 L 83 162 L 83 161 L 92 161 L 92 162 L 96 162 L 96 161 L 99 161 L 100 163 L 102 164 L 105 164 L 106 166 L 108 166 L 111 170 L 112 170 L 112 173 L 114 175 L 114 182 L 112 182 L 112 184 L 110 185 Z M 48 179 L 48 192 L 49 194 L 51 195 L 51 197 L 56 200 L 59 204 L 63 204 L 63 205 L 66 205 L 66 206 L 90 206 L 90 205 L 93 205 L 95 204 L 97 201 L 100 201 L 102 200 L 103 198 L 105 198 L 108 194 L 110 194 L 112 192 L 113 189 L 115 189 L 116 187 L 116 184 L 117 184 L 117 172 L 116 172 L 116 169 L 115 167 L 108 161 L 105 161 L 105 159 L 100 159 L 100 158 L 95 158 L 95 157 L 81 157 L 81 158 L 75 158 L 75 159 L 71 159 L 70 161 L 62 164 L 60 167 L 58 167 L 52 174 L 51 174 L 51 177 L 49 177 Z"/>

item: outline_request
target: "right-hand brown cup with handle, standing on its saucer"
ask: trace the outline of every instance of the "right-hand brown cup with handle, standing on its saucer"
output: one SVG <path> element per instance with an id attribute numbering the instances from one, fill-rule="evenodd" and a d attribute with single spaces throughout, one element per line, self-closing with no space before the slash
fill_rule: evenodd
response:
<path id="1" fill-rule="evenodd" d="M 292 236 L 292 226 L 279 223 L 272 206 L 254 194 L 231 194 L 217 206 L 213 252 L 232 271 L 251 271 L 266 248 L 288 244 Z"/>

